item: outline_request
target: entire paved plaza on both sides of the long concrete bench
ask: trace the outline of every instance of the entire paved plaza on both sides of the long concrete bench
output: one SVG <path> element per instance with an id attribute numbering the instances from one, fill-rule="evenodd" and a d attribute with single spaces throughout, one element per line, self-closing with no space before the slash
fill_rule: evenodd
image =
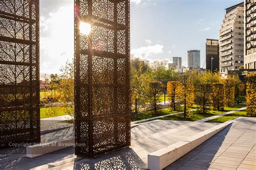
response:
<path id="1" fill-rule="evenodd" d="M 255 118 L 241 118 L 234 121 L 231 126 L 217 133 L 166 169 L 255 168 L 255 165 L 252 165 L 256 152 L 255 123 Z M 24 147 L 8 148 L 0 150 L 0 169 L 147 168 L 147 154 L 218 124 L 163 120 L 133 124 L 131 147 L 96 159 L 76 157 L 74 147 L 36 158 L 25 157 Z M 63 129 L 61 133 L 64 135 L 68 131 L 71 134 L 72 127 L 68 129 L 69 131 Z M 50 133 L 43 135 L 47 134 L 49 140 Z M 61 134 L 58 135 L 61 136 Z"/>

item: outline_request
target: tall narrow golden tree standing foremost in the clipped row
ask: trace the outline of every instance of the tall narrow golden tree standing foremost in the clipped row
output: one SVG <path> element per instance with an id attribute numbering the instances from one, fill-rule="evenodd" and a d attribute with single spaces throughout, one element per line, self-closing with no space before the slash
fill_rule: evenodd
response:
<path id="1" fill-rule="evenodd" d="M 184 118 L 192 117 L 192 111 L 188 110 L 194 104 L 194 86 L 191 82 L 190 73 L 186 72 L 180 76 L 180 81 L 183 86 L 183 104 L 184 104 Z"/>

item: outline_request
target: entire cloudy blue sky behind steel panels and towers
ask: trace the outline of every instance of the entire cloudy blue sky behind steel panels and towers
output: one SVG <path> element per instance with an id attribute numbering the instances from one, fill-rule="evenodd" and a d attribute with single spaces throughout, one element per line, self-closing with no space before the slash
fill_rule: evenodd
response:
<path id="1" fill-rule="evenodd" d="M 205 61 L 206 38 L 219 39 L 225 8 L 241 0 L 131 0 L 131 55 L 153 60 L 200 49 Z M 41 77 L 59 73 L 73 58 L 73 0 L 41 0 Z"/>

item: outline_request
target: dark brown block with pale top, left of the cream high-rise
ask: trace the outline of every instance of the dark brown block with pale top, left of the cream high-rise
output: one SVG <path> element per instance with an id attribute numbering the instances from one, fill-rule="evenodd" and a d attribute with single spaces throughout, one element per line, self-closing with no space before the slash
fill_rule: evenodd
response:
<path id="1" fill-rule="evenodd" d="M 206 39 L 206 69 L 219 71 L 219 40 Z"/>

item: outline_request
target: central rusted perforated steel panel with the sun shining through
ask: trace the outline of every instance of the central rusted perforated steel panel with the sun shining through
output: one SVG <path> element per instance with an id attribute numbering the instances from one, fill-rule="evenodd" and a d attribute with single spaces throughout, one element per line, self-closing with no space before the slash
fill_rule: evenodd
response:
<path id="1" fill-rule="evenodd" d="M 130 113 L 130 1 L 75 0 L 76 155 L 130 146 Z"/>

